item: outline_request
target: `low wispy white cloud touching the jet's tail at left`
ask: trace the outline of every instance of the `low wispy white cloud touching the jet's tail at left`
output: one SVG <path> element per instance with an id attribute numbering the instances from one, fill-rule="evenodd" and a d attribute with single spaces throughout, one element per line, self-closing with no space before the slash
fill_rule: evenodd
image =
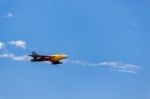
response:
<path id="1" fill-rule="evenodd" d="M 12 53 L 0 54 L 0 58 L 8 58 L 8 59 L 12 59 L 12 60 L 15 60 L 15 61 L 30 60 L 30 58 L 27 55 L 16 56 L 15 54 L 12 54 Z"/>

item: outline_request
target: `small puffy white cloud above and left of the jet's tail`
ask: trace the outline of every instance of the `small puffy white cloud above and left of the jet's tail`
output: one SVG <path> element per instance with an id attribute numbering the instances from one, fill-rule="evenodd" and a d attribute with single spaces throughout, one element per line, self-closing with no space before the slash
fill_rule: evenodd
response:
<path id="1" fill-rule="evenodd" d="M 23 40 L 10 41 L 9 44 L 20 48 L 26 48 L 26 42 Z"/>

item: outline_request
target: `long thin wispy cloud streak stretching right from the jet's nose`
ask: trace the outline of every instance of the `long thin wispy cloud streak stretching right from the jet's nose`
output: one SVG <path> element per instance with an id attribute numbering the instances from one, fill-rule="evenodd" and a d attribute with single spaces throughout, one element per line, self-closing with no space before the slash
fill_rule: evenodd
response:
<path id="1" fill-rule="evenodd" d="M 126 73 L 138 73 L 140 66 L 134 64 L 126 64 L 117 61 L 105 61 L 100 63 L 92 63 L 80 60 L 68 60 L 65 63 L 76 64 L 81 66 L 91 66 L 91 67 L 110 67 L 110 69 Z"/>

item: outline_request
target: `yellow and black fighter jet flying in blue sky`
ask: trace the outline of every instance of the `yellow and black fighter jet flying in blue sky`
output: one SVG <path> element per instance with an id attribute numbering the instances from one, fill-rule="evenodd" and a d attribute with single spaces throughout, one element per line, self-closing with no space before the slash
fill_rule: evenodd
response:
<path id="1" fill-rule="evenodd" d="M 32 52 L 32 55 L 29 55 L 32 57 L 32 62 L 44 62 L 49 61 L 52 64 L 62 64 L 63 62 L 60 62 L 62 59 L 68 58 L 65 54 L 55 54 L 55 55 L 39 55 L 36 52 Z"/>

